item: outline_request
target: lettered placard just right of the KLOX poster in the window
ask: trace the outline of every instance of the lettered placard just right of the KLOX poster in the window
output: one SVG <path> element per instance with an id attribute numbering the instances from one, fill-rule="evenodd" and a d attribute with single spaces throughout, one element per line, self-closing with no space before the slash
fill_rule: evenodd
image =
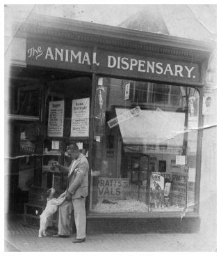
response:
<path id="1" fill-rule="evenodd" d="M 186 207 L 188 174 L 172 173 L 172 204 Z"/>

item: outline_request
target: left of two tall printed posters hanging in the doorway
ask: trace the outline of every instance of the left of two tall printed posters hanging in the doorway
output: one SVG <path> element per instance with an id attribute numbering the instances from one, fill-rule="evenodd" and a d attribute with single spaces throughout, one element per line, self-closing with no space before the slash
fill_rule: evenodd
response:
<path id="1" fill-rule="evenodd" d="M 63 137 L 64 105 L 64 100 L 49 102 L 48 137 Z"/>

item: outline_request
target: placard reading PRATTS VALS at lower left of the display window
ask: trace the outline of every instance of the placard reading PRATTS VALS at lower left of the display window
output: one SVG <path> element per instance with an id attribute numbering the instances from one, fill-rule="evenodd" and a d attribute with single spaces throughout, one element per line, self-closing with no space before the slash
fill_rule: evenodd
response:
<path id="1" fill-rule="evenodd" d="M 128 187 L 129 179 L 99 177 L 98 200 L 108 199 L 115 201 L 117 199 L 124 199 L 126 188 Z"/>

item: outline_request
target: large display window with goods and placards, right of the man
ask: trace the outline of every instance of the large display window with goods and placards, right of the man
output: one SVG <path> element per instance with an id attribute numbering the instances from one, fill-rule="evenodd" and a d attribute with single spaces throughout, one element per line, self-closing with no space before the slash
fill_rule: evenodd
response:
<path id="1" fill-rule="evenodd" d="M 193 211 L 199 92 L 99 77 L 90 211 Z"/>

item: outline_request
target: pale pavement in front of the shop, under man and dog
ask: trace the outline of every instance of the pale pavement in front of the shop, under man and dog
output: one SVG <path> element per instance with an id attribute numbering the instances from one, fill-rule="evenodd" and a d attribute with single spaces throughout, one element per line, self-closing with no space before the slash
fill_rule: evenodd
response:
<path id="1" fill-rule="evenodd" d="M 53 232 L 49 230 L 51 235 Z M 216 234 L 90 234 L 84 243 L 53 236 L 38 238 L 38 229 L 21 218 L 5 222 L 5 252 L 215 252 Z"/>

